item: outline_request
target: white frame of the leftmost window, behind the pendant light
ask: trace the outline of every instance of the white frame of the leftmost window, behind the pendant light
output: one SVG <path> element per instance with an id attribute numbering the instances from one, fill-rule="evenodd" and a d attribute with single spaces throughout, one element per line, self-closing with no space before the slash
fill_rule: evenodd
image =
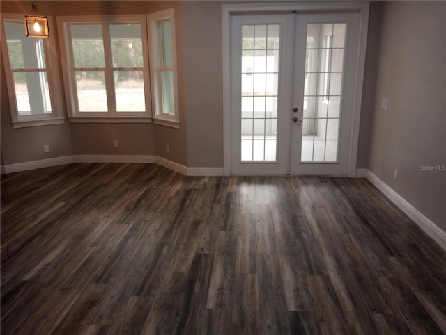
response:
<path id="1" fill-rule="evenodd" d="M 65 113 L 63 111 L 63 100 L 60 88 L 60 74 L 59 65 L 57 63 L 58 55 L 55 48 L 56 39 L 54 38 L 54 24 L 51 16 L 48 17 L 49 37 L 40 38 L 43 44 L 43 54 L 45 56 L 45 68 L 33 69 L 31 71 L 23 72 L 35 72 L 34 70 L 43 70 L 46 72 L 48 81 L 49 98 L 51 101 L 51 113 L 20 115 L 17 106 L 17 99 L 15 93 L 15 83 L 13 79 L 14 72 L 10 67 L 8 44 L 6 40 L 6 31 L 4 28 L 5 22 L 14 22 L 23 26 L 23 15 L 17 13 L 1 13 L 1 54 L 3 57 L 3 63 L 5 67 L 6 88 L 8 90 L 8 98 L 10 104 L 11 123 L 14 128 L 24 128 L 29 126 L 46 126 L 50 124 L 63 124 L 65 122 Z M 24 29 L 24 28 L 23 28 Z M 24 38 L 26 35 L 23 31 Z"/>

